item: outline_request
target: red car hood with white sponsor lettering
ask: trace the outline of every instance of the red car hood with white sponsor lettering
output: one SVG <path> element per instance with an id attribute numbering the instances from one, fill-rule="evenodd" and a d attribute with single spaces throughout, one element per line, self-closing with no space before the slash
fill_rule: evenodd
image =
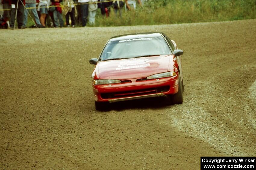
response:
<path id="1" fill-rule="evenodd" d="M 135 79 L 168 71 L 171 55 L 98 62 L 100 79 Z"/>

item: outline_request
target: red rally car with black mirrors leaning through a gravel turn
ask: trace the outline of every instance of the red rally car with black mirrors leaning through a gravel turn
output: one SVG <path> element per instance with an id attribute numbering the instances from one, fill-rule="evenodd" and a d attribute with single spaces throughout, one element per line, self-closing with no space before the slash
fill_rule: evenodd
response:
<path id="1" fill-rule="evenodd" d="M 164 33 L 136 33 L 112 37 L 95 64 L 92 86 L 96 110 L 107 103 L 167 96 L 183 103 L 183 74 L 176 43 Z"/>

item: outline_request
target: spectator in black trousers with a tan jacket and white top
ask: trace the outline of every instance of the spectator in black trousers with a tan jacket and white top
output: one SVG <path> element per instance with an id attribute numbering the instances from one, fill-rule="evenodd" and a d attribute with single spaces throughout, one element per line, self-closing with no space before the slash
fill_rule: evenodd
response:
<path id="1" fill-rule="evenodd" d="M 69 23 L 69 16 L 71 18 L 71 25 L 72 27 L 75 27 L 75 16 L 77 15 L 77 12 L 76 12 L 76 8 L 75 8 L 75 5 L 74 5 L 74 1 L 73 0 L 66 0 L 64 1 L 63 3 L 63 14 L 65 15 L 66 17 L 66 24 L 67 24 L 67 27 L 70 27 L 70 23 Z"/>

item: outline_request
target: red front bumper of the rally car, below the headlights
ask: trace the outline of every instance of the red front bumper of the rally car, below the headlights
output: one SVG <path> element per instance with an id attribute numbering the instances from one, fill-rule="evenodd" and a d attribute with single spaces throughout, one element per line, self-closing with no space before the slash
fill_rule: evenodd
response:
<path id="1" fill-rule="evenodd" d="M 94 100 L 97 102 L 118 102 L 149 97 L 160 97 L 178 92 L 179 75 L 130 83 L 93 85 Z"/>

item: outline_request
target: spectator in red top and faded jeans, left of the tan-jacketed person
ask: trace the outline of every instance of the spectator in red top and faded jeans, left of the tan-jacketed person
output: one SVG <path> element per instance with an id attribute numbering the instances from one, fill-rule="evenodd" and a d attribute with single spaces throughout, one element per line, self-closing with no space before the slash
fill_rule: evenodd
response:
<path id="1" fill-rule="evenodd" d="M 52 0 L 52 5 L 55 5 L 55 10 L 53 11 L 53 19 L 54 19 L 54 25 L 56 28 L 59 27 L 64 27 L 64 21 L 63 21 L 63 17 L 62 17 L 62 10 L 61 10 L 61 6 L 60 6 L 60 2 L 62 2 L 62 0 Z"/>

